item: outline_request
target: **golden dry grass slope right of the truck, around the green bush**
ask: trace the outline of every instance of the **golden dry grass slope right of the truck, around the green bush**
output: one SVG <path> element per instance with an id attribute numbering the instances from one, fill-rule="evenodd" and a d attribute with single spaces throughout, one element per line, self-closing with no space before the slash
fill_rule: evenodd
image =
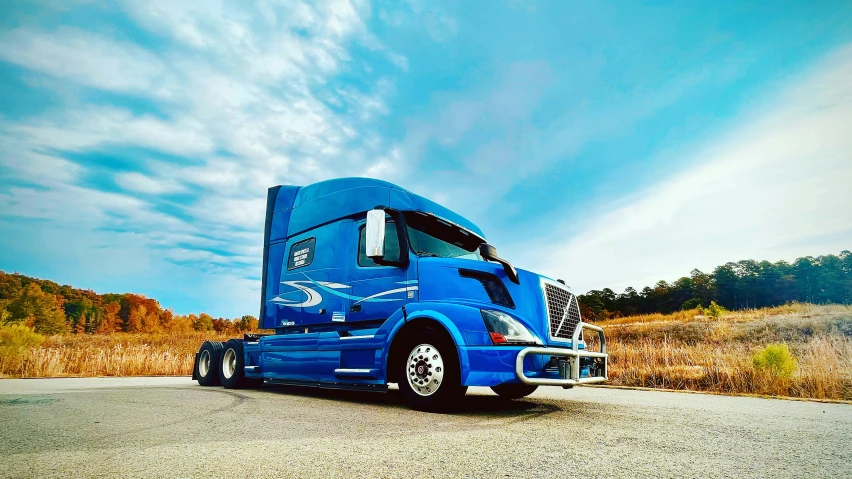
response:
<path id="1" fill-rule="evenodd" d="M 598 323 L 610 353 L 609 384 L 852 399 L 852 307 L 793 304 L 719 319 L 681 311 Z M 798 364 L 790 377 L 755 368 L 752 357 L 787 344 Z"/>

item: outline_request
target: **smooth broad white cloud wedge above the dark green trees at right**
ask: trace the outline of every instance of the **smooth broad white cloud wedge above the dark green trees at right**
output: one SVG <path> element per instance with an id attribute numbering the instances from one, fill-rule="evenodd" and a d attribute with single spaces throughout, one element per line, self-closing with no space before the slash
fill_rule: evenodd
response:
<path id="1" fill-rule="evenodd" d="M 693 267 L 791 260 L 852 247 L 852 46 L 772 95 L 728 134 L 692 148 L 698 166 L 557 228 L 527 256 L 578 291 L 642 287 Z"/>

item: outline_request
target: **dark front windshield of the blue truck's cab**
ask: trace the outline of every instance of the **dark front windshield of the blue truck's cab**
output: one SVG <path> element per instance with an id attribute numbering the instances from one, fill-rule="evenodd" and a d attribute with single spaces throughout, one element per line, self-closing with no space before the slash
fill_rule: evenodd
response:
<path id="1" fill-rule="evenodd" d="M 482 260 L 482 238 L 435 216 L 406 212 L 408 241 L 418 256 Z"/>

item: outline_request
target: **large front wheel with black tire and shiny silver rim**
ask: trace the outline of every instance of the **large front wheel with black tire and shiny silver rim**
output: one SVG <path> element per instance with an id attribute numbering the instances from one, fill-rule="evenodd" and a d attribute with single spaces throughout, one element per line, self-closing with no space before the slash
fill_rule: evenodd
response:
<path id="1" fill-rule="evenodd" d="M 434 329 L 406 335 L 396 368 L 399 391 L 412 409 L 448 411 L 459 405 L 467 387 L 461 385 L 455 344 Z"/>

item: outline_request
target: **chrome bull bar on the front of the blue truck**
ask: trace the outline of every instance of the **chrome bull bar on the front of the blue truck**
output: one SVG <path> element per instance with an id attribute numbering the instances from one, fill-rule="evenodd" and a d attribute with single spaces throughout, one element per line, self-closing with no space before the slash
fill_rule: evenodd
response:
<path id="1" fill-rule="evenodd" d="M 598 333 L 598 338 L 601 341 L 600 352 L 586 351 L 579 348 L 580 332 L 583 329 L 589 329 Z M 550 378 L 531 378 L 524 374 L 524 358 L 528 354 L 542 354 L 548 356 L 565 356 L 567 361 L 563 360 L 559 364 L 559 375 L 561 379 Z M 515 359 L 515 375 L 525 384 L 536 386 L 575 386 L 577 384 L 600 383 L 607 380 L 607 364 L 609 355 L 606 353 L 606 337 L 603 329 L 593 324 L 580 322 L 574 329 L 574 336 L 571 338 L 571 349 L 565 348 L 543 348 L 529 347 L 518 352 L 518 357 Z M 580 377 L 580 358 L 603 358 L 603 375 L 589 376 L 586 378 Z M 566 364 L 567 363 L 567 364 Z"/>

